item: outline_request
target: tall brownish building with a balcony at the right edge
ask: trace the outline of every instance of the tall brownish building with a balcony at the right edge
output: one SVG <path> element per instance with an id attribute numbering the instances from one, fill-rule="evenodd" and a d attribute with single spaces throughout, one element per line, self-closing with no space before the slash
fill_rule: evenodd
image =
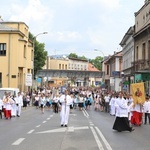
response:
<path id="1" fill-rule="evenodd" d="M 135 13 L 134 61 L 132 70 L 134 82 L 144 82 L 146 93 L 150 94 L 150 2 Z"/>

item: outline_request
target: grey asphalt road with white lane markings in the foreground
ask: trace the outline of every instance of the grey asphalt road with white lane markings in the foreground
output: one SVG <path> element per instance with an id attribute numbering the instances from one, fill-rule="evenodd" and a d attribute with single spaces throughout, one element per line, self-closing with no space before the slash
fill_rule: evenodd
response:
<path id="1" fill-rule="evenodd" d="M 108 113 L 74 109 L 68 127 L 60 127 L 60 114 L 28 107 L 21 117 L 0 119 L 0 150 L 149 150 L 150 125 L 133 132 L 112 130 Z"/>

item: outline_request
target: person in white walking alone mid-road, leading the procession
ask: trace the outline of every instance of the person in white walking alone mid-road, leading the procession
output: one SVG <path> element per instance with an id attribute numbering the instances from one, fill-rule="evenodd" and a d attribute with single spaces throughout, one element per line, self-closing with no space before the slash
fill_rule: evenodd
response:
<path id="1" fill-rule="evenodd" d="M 67 127 L 68 120 L 69 120 L 69 113 L 70 113 L 70 104 L 72 103 L 72 99 L 70 95 L 68 95 L 68 91 L 65 90 L 65 94 L 62 94 L 60 97 L 60 103 L 61 103 L 61 126 Z"/>

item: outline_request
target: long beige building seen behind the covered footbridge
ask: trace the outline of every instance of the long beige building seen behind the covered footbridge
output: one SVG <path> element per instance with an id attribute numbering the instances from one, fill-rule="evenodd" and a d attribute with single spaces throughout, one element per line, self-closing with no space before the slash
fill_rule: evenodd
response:
<path id="1" fill-rule="evenodd" d="M 82 60 L 78 58 L 53 58 L 47 57 L 46 65 L 43 69 L 52 69 L 52 70 L 74 70 L 74 71 L 93 71 L 89 70 L 89 63 L 87 60 Z M 95 71 L 95 70 L 94 70 Z M 96 70 L 98 71 L 98 70 Z M 89 79 L 89 77 L 72 77 L 72 78 L 63 78 L 63 77 L 46 77 L 45 84 L 50 86 L 90 86 L 95 85 L 95 78 Z M 91 82 L 90 82 L 91 81 Z"/>

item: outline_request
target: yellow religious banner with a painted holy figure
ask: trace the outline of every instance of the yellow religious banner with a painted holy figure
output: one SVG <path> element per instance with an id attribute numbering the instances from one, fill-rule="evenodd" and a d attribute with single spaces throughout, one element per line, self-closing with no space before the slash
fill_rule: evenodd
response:
<path id="1" fill-rule="evenodd" d="M 143 104 L 145 102 L 144 82 L 131 84 L 131 90 L 134 104 Z"/>

